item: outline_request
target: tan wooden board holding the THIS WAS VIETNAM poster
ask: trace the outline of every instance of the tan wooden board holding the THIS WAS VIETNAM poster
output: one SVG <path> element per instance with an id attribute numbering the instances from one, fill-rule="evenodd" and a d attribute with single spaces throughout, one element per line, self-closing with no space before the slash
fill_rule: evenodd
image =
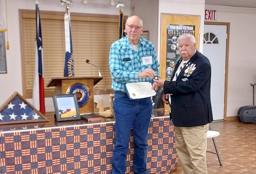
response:
<path id="1" fill-rule="evenodd" d="M 177 26 L 177 29 L 174 29 Z M 167 30 L 169 29 L 169 30 Z M 160 53 L 160 76 L 161 79 L 169 80 L 166 78 L 167 71 L 174 70 L 175 61 L 167 54 L 170 50 L 168 47 L 172 47 L 175 54 L 178 54 L 179 50 L 175 47 L 175 41 L 178 36 L 183 33 L 193 34 L 196 38 L 196 46 L 199 50 L 199 33 L 200 33 L 200 16 L 197 15 L 178 15 L 178 14 L 161 14 L 161 53 Z M 174 36 L 177 36 L 174 37 Z M 167 40 L 168 38 L 168 40 Z M 173 42 L 172 42 L 173 39 Z M 169 43 L 169 44 L 168 44 Z M 173 54 L 174 55 L 174 54 Z M 172 55 L 171 55 L 172 56 Z M 167 58 L 168 57 L 168 58 Z M 173 56 L 173 59 L 177 59 L 178 56 Z M 169 59 L 169 60 L 168 60 Z M 170 62 L 168 62 L 168 61 Z M 174 64 L 173 64 L 174 62 Z M 168 68 L 168 66 L 170 68 Z M 168 68 L 168 70 L 167 70 Z M 168 105 L 164 104 L 165 114 L 168 114 Z"/>

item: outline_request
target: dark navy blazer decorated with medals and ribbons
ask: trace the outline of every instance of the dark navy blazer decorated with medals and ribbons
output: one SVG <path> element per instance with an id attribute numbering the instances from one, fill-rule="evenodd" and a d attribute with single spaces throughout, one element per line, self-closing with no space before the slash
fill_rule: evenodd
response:
<path id="1" fill-rule="evenodd" d="M 210 62 L 207 57 L 196 51 L 187 66 L 181 70 L 177 80 L 172 81 L 181 61 L 182 58 L 176 64 L 172 79 L 164 82 L 164 93 L 170 94 L 172 99 L 170 118 L 175 126 L 205 125 L 212 121 Z M 185 77 L 184 71 L 191 63 L 196 64 L 196 69 L 189 77 Z"/>

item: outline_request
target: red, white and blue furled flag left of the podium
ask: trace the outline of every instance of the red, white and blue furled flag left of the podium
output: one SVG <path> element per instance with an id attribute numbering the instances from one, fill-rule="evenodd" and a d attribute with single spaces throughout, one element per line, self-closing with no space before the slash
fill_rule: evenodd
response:
<path id="1" fill-rule="evenodd" d="M 36 1 L 36 40 L 35 40 L 35 79 L 33 86 L 33 105 L 45 115 L 44 77 L 42 73 L 42 35 L 38 1 Z"/>

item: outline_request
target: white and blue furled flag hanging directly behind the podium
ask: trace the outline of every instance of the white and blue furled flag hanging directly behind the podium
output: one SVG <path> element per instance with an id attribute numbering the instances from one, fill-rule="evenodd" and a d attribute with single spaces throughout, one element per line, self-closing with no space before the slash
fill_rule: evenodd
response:
<path id="1" fill-rule="evenodd" d="M 65 25 L 65 43 L 66 43 L 64 76 L 65 77 L 73 77 L 75 75 L 74 74 L 74 59 L 73 59 L 73 50 L 72 50 L 70 13 L 69 13 L 68 9 L 64 15 L 64 25 Z"/>

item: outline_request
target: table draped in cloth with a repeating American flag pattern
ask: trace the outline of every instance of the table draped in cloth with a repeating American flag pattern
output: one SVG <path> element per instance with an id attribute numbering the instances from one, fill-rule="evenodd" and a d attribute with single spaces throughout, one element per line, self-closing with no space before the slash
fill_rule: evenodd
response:
<path id="1" fill-rule="evenodd" d="M 114 127 L 114 121 L 82 120 L 74 125 L 0 132 L 0 173 L 111 173 Z M 126 173 L 133 173 L 132 133 L 131 130 Z M 147 173 L 175 170 L 179 159 L 174 137 L 174 125 L 168 116 L 151 118 Z"/>

